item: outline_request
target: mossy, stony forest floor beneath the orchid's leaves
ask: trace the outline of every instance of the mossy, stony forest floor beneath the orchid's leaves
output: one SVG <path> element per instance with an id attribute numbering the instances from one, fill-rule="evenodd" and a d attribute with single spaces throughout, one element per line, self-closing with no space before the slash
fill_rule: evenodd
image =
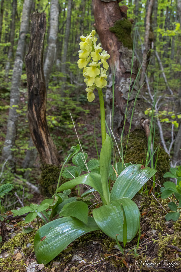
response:
<path id="1" fill-rule="evenodd" d="M 101 231 L 79 237 L 48 265 L 37 264 L 33 240 L 37 230 L 35 222 L 25 224 L 23 218 L 1 223 L 4 241 L 1 246 L 0 271 L 12 272 L 114 272 L 114 271 L 181 271 L 181 220 L 166 222 L 164 215 L 168 201 L 153 196 L 137 195 L 133 199 L 141 212 L 141 237 L 137 253 L 138 234 L 125 248 L 125 256 L 115 240 Z M 134 219 L 133 219 L 134 223 Z M 41 221 L 40 221 L 41 224 Z M 24 227 L 24 228 L 23 228 Z M 32 227 L 32 232 L 22 229 Z M 152 264 L 151 264 L 152 263 Z"/>

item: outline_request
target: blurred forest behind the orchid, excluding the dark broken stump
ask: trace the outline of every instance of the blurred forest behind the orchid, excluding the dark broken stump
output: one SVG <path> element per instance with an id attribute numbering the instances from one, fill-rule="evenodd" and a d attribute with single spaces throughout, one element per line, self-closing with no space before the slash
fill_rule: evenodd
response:
<path id="1" fill-rule="evenodd" d="M 110 6 L 106 18 L 103 11 L 108 2 Z M 107 89 L 103 91 L 106 121 L 109 127 L 110 110 L 114 108 L 113 130 L 119 146 L 119 137 L 124 129 L 122 143 L 125 162 L 134 161 L 144 165 L 148 148 L 147 129 L 153 118 L 155 149 L 160 146 L 155 152 L 159 168 L 157 177 L 161 181 L 170 166 L 179 165 L 180 0 L 94 0 L 93 5 L 91 0 L 1 0 L 0 5 L 0 183 L 14 184 L 13 193 L 4 200 L 7 210 L 16 207 L 17 194 L 26 201 L 33 197 L 33 191 L 41 191 L 45 196 L 53 193 L 60 165 L 70 147 L 78 143 L 69 112 L 89 159 L 97 157 L 95 142 L 100 151 L 98 94 L 95 93 L 95 101 L 87 102 L 86 83 L 77 64 L 80 36 L 86 36 L 92 29 L 98 32 L 103 49 L 111 55 L 112 69 L 109 71 Z M 112 18 L 116 13 L 111 8 L 114 7 L 120 8 L 119 30 L 113 24 Z M 44 74 L 46 120 L 53 140 L 50 155 L 41 149 L 41 145 L 48 145 L 46 139 L 36 143 L 35 148 L 30 137 L 25 55 L 29 50 L 32 12 L 46 13 Z M 112 30 L 106 28 L 106 22 L 112 26 Z M 108 45 L 109 38 L 112 39 L 110 35 L 114 35 L 112 51 Z M 133 92 L 128 98 L 130 88 L 133 88 Z M 112 93 L 114 89 L 115 96 Z M 125 123 L 125 102 L 128 100 L 129 111 Z M 133 107 L 135 110 L 131 119 Z M 146 123 L 144 120 L 147 120 Z"/>

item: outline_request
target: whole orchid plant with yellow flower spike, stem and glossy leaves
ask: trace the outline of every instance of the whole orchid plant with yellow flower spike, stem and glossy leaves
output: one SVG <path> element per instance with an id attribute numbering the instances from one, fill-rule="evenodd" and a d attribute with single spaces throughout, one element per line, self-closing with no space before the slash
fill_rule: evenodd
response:
<path id="1" fill-rule="evenodd" d="M 132 198 L 156 172 L 152 168 L 142 168 L 139 164 L 129 165 L 119 174 L 113 187 L 110 188 L 108 180 L 112 142 L 106 133 L 102 92 L 102 88 L 107 85 L 108 63 L 106 60 L 110 56 L 103 51 L 100 43 L 96 45 L 95 30 L 92 30 L 86 37 L 81 36 L 80 38 L 78 67 L 83 69 L 87 99 L 89 102 L 95 99 L 93 92 L 96 88 L 100 101 L 102 135 L 100 173 L 88 171 L 56 189 L 54 195 L 56 208 L 54 208 L 53 216 L 57 213 L 60 218 L 40 227 L 34 238 L 34 252 L 37 261 L 44 264 L 53 260 L 73 240 L 91 231 L 102 230 L 106 235 L 117 240 L 117 243 L 118 241 L 123 242 L 125 246 L 135 237 L 140 224 L 140 212 Z M 84 163 L 86 165 L 86 160 Z M 71 189 L 79 184 L 92 187 L 93 189 L 89 190 L 90 193 L 94 192 L 100 196 L 102 204 L 92 210 L 92 216 L 88 215 L 88 205 L 83 201 L 69 201 L 62 209 L 62 194 L 58 192 Z"/>

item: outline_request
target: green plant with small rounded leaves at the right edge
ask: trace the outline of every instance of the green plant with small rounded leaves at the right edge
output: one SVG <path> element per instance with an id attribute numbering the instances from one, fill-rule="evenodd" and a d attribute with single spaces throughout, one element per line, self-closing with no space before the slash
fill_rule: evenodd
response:
<path id="1" fill-rule="evenodd" d="M 167 221 L 173 220 L 177 221 L 181 212 L 181 165 L 177 168 L 171 167 L 170 172 L 167 172 L 163 176 L 164 178 L 175 178 L 177 179 L 177 185 L 174 182 L 167 181 L 163 183 L 164 187 L 160 188 L 162 192 L 161 198 L 165 199 L 173 195 L 176 199 L 175 201 L 170 201 L 168 206 L 172 212 L 165 215 Z"/>

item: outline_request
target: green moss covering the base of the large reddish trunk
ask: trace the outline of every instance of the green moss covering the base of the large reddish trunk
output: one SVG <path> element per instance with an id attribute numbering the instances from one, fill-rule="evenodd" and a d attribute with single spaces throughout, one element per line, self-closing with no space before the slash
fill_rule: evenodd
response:
<path id="1" fill-rule="evenodd" d="M 125 153 L 126 143 L 127 143 L 128 135 L 123 139 L 123 154 Z M 145 132 L 142 129 L 135 129 L 130 133 L 128 146 L 125 155 L 125 162 L 135 162 L 141 163 L 144 165 L 146 160 L 147 153 L 147 138 L 145 136 Z M 155 137 L 154 148 L 159 146 L 159 138 Z M 157 151 L 154 154 L 154 158 L 157 157 Z M 163 147 L 159 147 L 158 160 L 156 165 L 157 175 L 156 179 L 160 180 L 160 183 L 166 182 L 167 179 L 163 178 L 163 175 L 166 172 L 169 172 L 170 169 L 170 157 L 164 151 Z"/>

